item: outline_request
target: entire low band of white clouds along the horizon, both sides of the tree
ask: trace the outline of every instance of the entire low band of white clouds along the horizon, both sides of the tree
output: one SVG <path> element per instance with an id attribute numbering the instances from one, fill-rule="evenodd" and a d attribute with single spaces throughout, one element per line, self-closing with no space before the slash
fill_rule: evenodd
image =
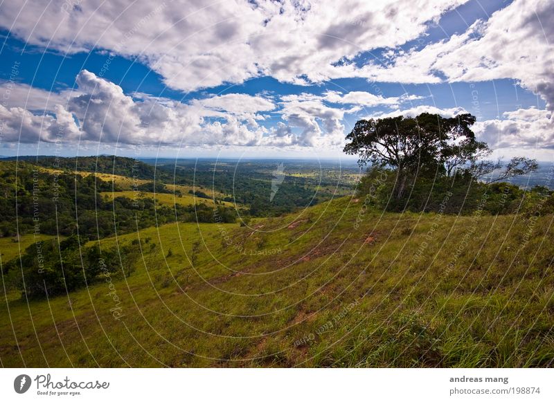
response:
<path id="1" fill-rule="evenodd" d="M 316 147 L 339 149 L 344 143 L 344 114 L 351 109 L 331 107 L 326 102 L 343 105 L 399 107 L 406 100 L 420 97 L 402 95 L 382 98 L 355 91 L 328 91 L 323 95 L 301 93 L 280 98 L 263 95 L 228 93 L 192 100 L 188 104 L 145 94 L 125 95 L 120 86 L 81 71 L 78 89 L 52 93 L 13 84 L 11 104 L 0 105 L 0 134 L 3 143 L 20 142 L 132 145 L 179 145 L 182 147 L 257 146 Z M 37 94 L 35 108 L 46 113 L 33 113 L 24 104 L 26 93 Z M 22 96 L 21 96 L 22 95 Z M 49 99 L 48 99 L 49 98 Z M 53 100 L 63 104 L 53 105 Z M 259 124 L 264 112 L 271 111 L 282 121 L 267 129 Z M 408 109 L 372 113 L 372 118 L 418 116 L 438 113 L 453 117 L 467 113 L 462 107 L 441 109 L 418 105 Z M 503 113 L 502 119 L 477 122 L 474 131 L 492 148 L 553 148 L 554 130 L 551 112 L 536 108 Z"/>

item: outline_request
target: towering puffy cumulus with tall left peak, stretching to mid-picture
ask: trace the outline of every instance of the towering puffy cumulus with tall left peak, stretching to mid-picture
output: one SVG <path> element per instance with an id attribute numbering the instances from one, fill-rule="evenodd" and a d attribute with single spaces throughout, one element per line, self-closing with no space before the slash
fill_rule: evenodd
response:
<path id="1" fill-rule="evenodd" d="M 80 122 L 82 139 L 105 143 L 170 145 L 255 145 L 265 129 L 257 113 L 274 109 L 271 100 L 226 94 L 184 104 L 142 95 L 134 99 L 120 86 L 81 71 L 80 95 L 68 110 Z"/>

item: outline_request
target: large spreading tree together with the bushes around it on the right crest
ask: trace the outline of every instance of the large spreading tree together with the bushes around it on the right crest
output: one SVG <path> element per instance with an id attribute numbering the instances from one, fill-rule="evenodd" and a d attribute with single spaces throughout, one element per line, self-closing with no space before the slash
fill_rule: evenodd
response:
<path id="1" fill-rule="evenodd" d="M 510 183 L 535 172 L 537 161 L 525 156 L 490 161 L 492 150 L 471 129 L 475 122 L 469 113 L 359 120 L 344 147 L 359 156 L 360 165 L 370 164 L 359 194 L 395 212 L 553 212 L 548 187 L 524 191 Z"/>

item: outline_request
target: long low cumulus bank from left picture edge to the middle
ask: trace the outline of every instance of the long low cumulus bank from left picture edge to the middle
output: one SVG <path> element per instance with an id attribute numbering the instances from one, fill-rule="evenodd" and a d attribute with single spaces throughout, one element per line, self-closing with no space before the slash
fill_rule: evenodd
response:
<path id="1" fill-rule="evenodd" d="M 76 91 L 51 95 L 12 84 L 10 104 L 0 105 L 3 141 L 253 145 L 265 133 L 256 122 L 263 118 L 257 113 L 274 109 L 271 100 L 243 94 L 194 100 L 191 104 L 144 94 L 132 98 L 120 86 L 87 70 L 79 73 L 76 83 Z M 26 92 L 37 97 L 24 102 Z M 21 107 L 25 105 L 35 113 Z"/>

